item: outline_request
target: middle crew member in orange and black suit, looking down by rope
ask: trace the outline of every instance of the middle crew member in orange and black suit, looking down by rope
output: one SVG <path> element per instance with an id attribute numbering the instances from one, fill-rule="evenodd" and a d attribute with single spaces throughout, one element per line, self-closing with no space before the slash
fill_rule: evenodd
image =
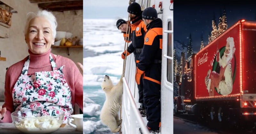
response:
<path id="1" fill-rule="evenodd" d="M 122 56 L 122 59 L 124 59 L 125 55 L 128 56 L 131 53 L 133 53 L 135 65 L 137 67 L 137 64 L 140 61 L 140 54 L 141 54 L 141 50 L 144 45 L 144 36 L 146 35 L 147 28 L 142 21 L 142 14 L 141 14 L 142 11 L 141 11 L 140 4 L 133 2 L 132 4 L 130 4 L 128 6 L 127 11 L 129 13 L 129 17 L 131 19 L 131 34 L 130 34 L 130 36 L 132 39 L 132 44 L 129 45 L 129 47 L 127 48 L 127 51 L 125 50 L 121 54 L 121 56 Z M 141 116 L 145 117 L 146 111 L 145 111 L 145 106 L 144 106 L 144 101 L 143 101 L 142 77 L 140 77 L 140 83 L 141 84 L 137 84 L 138 89 L 139 89 L 139 103 L 141 104 L 139 111 L 140 111 Z"/>

